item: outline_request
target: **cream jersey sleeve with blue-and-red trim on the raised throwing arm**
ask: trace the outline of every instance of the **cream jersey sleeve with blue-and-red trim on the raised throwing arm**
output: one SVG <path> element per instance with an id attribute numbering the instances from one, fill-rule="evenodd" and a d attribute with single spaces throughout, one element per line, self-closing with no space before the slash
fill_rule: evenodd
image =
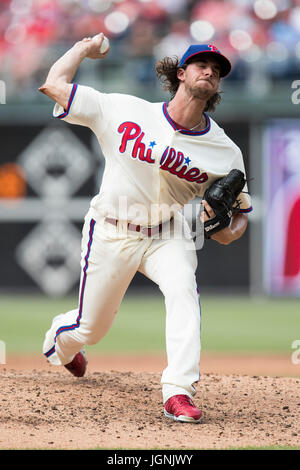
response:
<path id="1" fill-rule="evenodd" d="M 70 124 L 86 126 L 95 134 L 101 135 L 108 124 L 106 112 L 108 95 L 94 88 L 73 84 L 68 106 L 64 109 L 55 104 L 53 116 Z"/>

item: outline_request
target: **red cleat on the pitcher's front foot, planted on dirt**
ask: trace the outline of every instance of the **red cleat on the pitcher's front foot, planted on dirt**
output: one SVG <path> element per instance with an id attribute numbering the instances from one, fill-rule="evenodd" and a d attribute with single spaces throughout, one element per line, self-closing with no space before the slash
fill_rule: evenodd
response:
<path id="1" fill-rule="evenodd" d="M 174 421 L 199 423 L 202 411 L 196 408 L 189 396 L 174 395 L 165 403 L 164 414 Z"/>

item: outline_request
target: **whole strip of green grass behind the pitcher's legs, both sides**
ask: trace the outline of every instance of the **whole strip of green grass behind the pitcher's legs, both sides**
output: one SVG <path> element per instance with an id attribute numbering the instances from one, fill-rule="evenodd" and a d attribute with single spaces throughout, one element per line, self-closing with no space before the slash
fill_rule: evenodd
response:
<path id="1" fill-rule="evenodd" d="M 76 304 L 76 297 L 1 296 L 0 340 L 5 341 L 8 353 L 40 353 L 52 318 Z M 299 300 L 203 295 L 201 305 L 205 352 L 291 354 L 292 342 L 300 339 Z M 162 296 L 126 296 L 109 333 L 90 347 L 95 353 L 164 350 Z"/>

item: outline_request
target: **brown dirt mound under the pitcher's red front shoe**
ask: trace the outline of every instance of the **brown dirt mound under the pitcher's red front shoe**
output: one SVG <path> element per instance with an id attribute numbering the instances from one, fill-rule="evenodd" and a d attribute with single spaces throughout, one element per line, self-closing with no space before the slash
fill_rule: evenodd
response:
<path id="1" fill-rule="evenodd" d="M 160 374 L 1 369 L 0 448 L 202 449 L 300 445 L 300 380 L 204 374 L 199 425 L 164 417 Z"/>

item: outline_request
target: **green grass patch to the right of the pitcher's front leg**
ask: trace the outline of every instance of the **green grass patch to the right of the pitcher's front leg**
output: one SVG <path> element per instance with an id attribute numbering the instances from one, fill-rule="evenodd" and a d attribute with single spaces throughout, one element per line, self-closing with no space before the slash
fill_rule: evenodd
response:
<path id="1" fill-rule="evenodd" d="M 300 301 L 247 297 L 202 299 L 202 348 L 290 354 L 300 339 Z"/>

